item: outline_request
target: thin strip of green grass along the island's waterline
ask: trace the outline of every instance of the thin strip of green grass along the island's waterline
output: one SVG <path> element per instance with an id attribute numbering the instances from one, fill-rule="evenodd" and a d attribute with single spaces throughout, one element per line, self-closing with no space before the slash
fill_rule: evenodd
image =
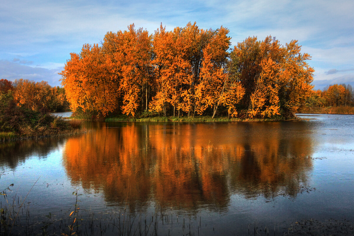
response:
<path id="1" fill-rule="evenodd" d="M 105 119 L 105 122 L 258 122 L 258 121 L 275 121 L 275 120 L 297 120 L 297 118 L 286 119 L 284 117 L 274 118 L 228 118 L 228 117 L 214 117 L 211 116 L 196 116 L 196 117 L 146 117 L 146 118 L 130 118 L 127 116 L 109 117 Z"/>

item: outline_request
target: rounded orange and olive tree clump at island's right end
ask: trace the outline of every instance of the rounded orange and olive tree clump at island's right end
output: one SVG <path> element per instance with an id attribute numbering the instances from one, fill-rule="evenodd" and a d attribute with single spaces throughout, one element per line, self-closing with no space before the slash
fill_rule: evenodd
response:
<path id="1" fill-rule="evenodd" d="M 292 116 L 312 95 L 314 70 L 306 62 L 310 56 L 300 51 L 296 40 L 281 46 L 270 36 L 249 37 L 234 47 L 229 70 L 240 75 L 249 117 Z"/>

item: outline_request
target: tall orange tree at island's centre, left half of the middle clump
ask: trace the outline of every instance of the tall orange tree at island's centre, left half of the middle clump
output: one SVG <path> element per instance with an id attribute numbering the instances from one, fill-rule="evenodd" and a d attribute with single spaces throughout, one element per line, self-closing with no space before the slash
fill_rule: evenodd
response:
<path id="1" fill-rule="evenodd" d="M 190 86 L 193 81 L 192 67 L 187 57 L 187 45 L 182 36 L 183 29 L 176 27 L 166 31 L 162 24 L 154 34 L 153 64 L 156 67 L 156 95 L 151 109 L 166 115 L 166 106 L 173 106 L 173 116 L 178 110 L 190 111 Z M 189 89 L 189 90 L 188 90 Z"/>

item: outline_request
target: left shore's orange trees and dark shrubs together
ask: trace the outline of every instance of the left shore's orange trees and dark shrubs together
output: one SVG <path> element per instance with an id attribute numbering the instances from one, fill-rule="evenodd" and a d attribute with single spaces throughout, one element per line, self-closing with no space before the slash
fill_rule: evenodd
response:
<path id="1" fill-rule="evenodd" d="M 80 133 L 80 122 L 48 114 L 68 107 L 64 91 L 45 81 L 1 79 L 0 142 Z"/>

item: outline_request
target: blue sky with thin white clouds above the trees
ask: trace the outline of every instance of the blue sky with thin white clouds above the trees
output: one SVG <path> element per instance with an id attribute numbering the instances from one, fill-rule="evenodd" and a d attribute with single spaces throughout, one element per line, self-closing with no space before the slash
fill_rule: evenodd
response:
<path id="1" fill-rule="evenodd" d="M 196 22 L 228 28 L 234 47 L 249 36 L 271 35 L 282 45 L 298 40 L 314 67 L 315 89 L 354 86 L 354 1 L 0 1 L 0 79 L 60 85 L 70 53 L 100 43 L 108 31 L 144 28 L 153 34 Z"/>

